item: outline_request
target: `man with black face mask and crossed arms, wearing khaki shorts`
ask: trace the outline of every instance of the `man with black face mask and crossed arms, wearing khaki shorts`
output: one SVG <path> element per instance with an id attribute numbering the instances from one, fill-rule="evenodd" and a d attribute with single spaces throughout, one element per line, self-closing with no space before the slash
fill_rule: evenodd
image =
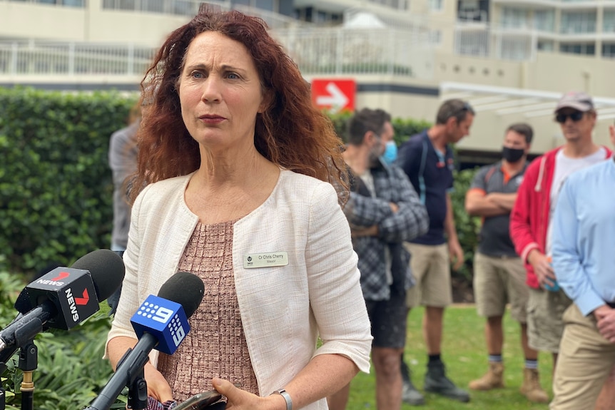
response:
<path id="1" fill-rule="evenodd" d="M 472 390 L 504 386 L 502 317 L 507 303 L 511 316 L 521 324 L 521 344 L 525 356 L 522 393 L 530 401 L 544 403 L 549 396 L 538 380 L 538 352 L 527 344 L 527 298 L 525 268 L 510 239 L 510 211 L 527 168 L 532 128 L 524 123 L 510 125 L 504 136 L 502 161 L 487 165 L 474 175 L 466 194 L 469 215 L 483 218 L 479 245 L 474 255 L 474 298 L 479 315 L 487 317 L 485 337 L 489 370 L 469 384 Z"/>

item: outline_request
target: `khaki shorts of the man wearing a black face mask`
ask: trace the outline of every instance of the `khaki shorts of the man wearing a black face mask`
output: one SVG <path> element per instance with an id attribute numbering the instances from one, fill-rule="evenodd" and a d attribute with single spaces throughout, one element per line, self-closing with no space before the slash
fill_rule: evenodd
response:
<path id="1" fill-rule="evenodd" d="M 510 303 L 510 315 L 517 322 L 527 318 L 528 287 L 520 257 L 474 255 L 474 300 L 480 316 L 502 316 Z"/>

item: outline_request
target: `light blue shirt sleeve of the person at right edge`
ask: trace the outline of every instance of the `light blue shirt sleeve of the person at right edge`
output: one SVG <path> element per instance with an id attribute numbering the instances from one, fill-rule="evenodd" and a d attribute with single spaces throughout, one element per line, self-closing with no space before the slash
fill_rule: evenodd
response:
<path id="1" fill-rule="evenodd" d="M 581 261 L 579 219 L 576 212 L 575 184 L 583 180 L 567 180 L 559 193 L 553 216 L 553 267 L 557 282 L 584 315 L 604 304 L 589 281 Z"/>

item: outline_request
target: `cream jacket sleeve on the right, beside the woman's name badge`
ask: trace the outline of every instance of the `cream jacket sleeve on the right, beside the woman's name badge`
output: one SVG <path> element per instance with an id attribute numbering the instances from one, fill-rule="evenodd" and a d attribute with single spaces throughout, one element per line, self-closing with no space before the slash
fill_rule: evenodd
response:
<path id="1" fill-rule="evenodd" d="M 369 372 L 370 319 L 348 222 L 330 188 L 316 190 L 311 204 L 305 260 L 310 309 L 322 339 L 315 354 L 342 354 Z"/>

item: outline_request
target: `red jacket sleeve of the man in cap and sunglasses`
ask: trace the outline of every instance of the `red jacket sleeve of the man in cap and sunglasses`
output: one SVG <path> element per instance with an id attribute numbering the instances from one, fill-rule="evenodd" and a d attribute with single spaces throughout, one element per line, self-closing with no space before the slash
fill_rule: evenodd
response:
<path id="1" fill-rule="evenodd" d="M 538 179 L 539 162 L 540 158 L 534 160 L 527 168 L 523 182 L 517 190 L 517 200 L 514 201 L 514 207 L 510 212 L 510 238 L 514 243 L 515 252 L 523 261 L 527 261 L 529 251 L 539 248 L 529 223 L 532 191 Z"/>

